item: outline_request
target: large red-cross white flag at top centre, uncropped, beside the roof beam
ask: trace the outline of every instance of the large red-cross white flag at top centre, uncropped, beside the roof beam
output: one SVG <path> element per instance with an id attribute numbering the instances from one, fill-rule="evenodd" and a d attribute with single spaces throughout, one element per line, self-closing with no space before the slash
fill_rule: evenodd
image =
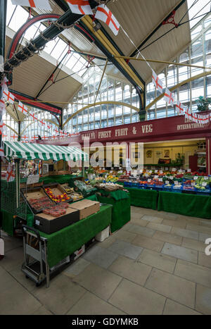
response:
<path id="1" fill-rule="evenodd" d="M 102 20 L 104 23 L 106 23 L 114 35 L 118 34 L 120 30 L 120 23 L 116 20 L 115 16 L 106 5 L 101 4 L 97 7 L 94 18 Z"/>

